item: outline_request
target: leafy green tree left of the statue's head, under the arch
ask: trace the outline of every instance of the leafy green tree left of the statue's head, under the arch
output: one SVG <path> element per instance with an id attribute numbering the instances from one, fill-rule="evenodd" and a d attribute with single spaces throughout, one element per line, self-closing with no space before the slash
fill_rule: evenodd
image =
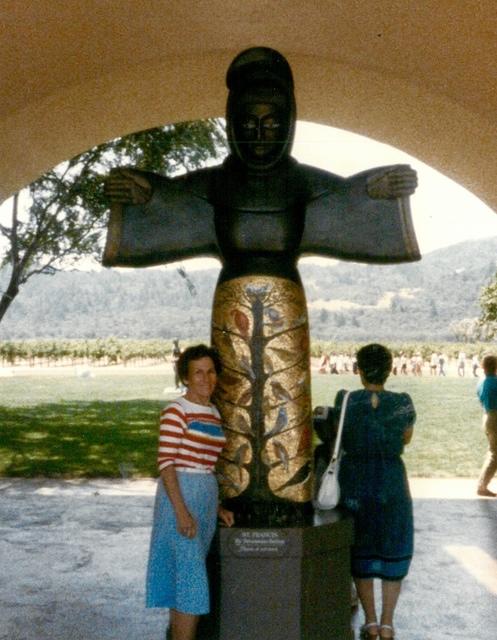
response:
<path id="1" fill-rule="evenodd" d="M 175 175 L 221 157 L 225 148 L 214 119 L 140 131 L 59 164 L 13 196 L 10 220 L 0 224 L 0 322 L 32 276 L 100 254 L 107 210 L 103 178 L 112 167 Z"/>

